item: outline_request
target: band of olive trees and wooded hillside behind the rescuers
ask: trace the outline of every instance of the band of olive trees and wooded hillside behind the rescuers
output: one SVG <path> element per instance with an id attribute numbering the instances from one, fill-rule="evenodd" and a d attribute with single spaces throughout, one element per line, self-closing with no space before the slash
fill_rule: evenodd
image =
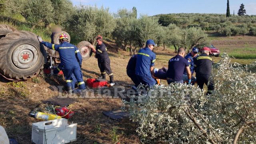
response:
<path id="1" fill-rule="evenodd" d="M 0 0 L 1 14 L 22 17 L 32 29 L 48 28 L 60 24 L 72 37 L 72 42 L 95 42 L 98 34 L 113 38 L 131 54 L 142 48 L 147 39 L 158 45 L 190 49 L 209 44 L 205 30 L 222 35 L 256 35 L 256 16 L 232 16 L 224 14 L 160 14 L 137 16 L 136 8 L 120 9 L 111 14 L 108 8 L 97 6 L 73 6 L 70 0 Z M 123 46 L 124 45 L 124 46 Z M 129 47 L 129 48 L 128 48 Z"/>

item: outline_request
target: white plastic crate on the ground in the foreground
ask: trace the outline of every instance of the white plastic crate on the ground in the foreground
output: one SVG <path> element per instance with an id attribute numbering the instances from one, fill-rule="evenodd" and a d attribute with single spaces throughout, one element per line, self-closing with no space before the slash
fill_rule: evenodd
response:
<path id="1" fill-rule="evenodd" d="M 66 144 L 76 141 L 77 124 L 68 124 L 65 118 L 32 124 L 32 142 L 35 144 Z"/>

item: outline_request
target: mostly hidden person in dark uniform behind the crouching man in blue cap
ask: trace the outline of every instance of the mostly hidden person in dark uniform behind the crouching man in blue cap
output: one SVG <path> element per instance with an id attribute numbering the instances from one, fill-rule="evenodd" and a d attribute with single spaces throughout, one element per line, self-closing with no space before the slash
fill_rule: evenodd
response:
<path id="1" fill-rule="evenodd" d="M 137 89 L 137 86 L 140 84 L 138 78 L 135 75 L 135 67 L 136 67 L 136 61 L 137 61 L 137 54 L 134 54 L 126 67 L 126 74 L 129 76 L 129 78 L 132 79 L 132 82 L 134 82 L 134 86 L 132 87 L 133 89 Z"/>

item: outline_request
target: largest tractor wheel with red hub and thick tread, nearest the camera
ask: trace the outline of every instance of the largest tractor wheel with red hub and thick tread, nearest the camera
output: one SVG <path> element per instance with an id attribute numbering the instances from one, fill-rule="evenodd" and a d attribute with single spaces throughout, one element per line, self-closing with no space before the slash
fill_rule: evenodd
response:
<path id="1" fill-rule="evenodd" d="M 0 43 L 0 73 L 9 80 L 27 80 L 43 68 L 44 56 L 36 34 L 27 31 L 8 33 Z"/>

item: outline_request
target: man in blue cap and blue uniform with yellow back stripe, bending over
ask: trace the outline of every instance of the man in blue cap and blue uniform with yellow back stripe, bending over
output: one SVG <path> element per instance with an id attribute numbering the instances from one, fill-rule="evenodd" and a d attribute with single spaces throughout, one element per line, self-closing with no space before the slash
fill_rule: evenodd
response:
<path id="1" fill-rule="evenodd" d="M 153 40 L 147 40 L 146 47 L 140 49 L 137 54 L 135 67 L 135 74 L 139 82 L 150 87 L 156 84 L 156 80 L 152 77 L 156 61 L 156 54 L 152 52 L 154 46 L 156 44 Z"/>

